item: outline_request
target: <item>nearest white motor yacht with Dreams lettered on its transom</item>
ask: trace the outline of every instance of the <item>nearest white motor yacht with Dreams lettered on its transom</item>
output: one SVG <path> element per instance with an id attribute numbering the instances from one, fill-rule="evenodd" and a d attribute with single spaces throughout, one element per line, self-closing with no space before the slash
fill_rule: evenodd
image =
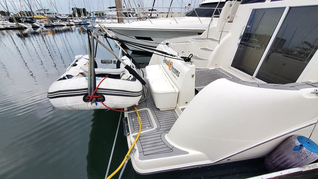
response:
<path id="1" fill-rule="evenodd" d="M 264 157 L 312 131 L 317 142 L 317 11 L 318 0 L 228 1 L 201 35 L 158 45 L 146 67 L 151 93 L 137 106 L 135 171 Z M 138 114 L 124 115 L 130 147 Z"/>

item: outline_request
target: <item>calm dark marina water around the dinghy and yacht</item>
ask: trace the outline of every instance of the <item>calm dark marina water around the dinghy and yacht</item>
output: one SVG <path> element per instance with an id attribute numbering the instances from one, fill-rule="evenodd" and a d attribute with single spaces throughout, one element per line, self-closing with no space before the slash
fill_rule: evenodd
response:
<path id="1" fill-rule="evenodd" d="M 113 48 L 118 49 L 112 44 Z M 100 46 L 99 46 L 100 47 Z M 49 86 L 75 55 L 87 53 L 79 27 L 0 31 L 0 178 L 104 178 L 120 113 L 53 110 Z M 146 66 L 149 54 L 133 52 Z M 114 59 L 99 48 L 97 58 Z M 112 173 L 128 150 L 120 124 Z M 266 173 L 263 159 L 122 178 L 245 178 Z M 114 178 L 118 178 L 118 175 Z"/>

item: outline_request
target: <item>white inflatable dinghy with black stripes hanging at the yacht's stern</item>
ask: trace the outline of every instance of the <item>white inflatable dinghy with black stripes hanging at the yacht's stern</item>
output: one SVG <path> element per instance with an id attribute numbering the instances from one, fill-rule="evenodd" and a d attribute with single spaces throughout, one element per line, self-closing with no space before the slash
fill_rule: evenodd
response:
<path id="1" fill-rule="evenodd" d="M 121 58 L 136 71 L 126 56 Z M 95 100 L 88 102 L 88 55 L 75 56 L 75 60 L 49 88 L 47 97 L 54 107 L 63 110 L 125 108 L 138 103 L 142 84 L 120 64 L 117 69 L 95 68 Z M 103 104 L 102 104 L 103 103 Z M 106 107 L 106 106 L 107 107 Z"/>

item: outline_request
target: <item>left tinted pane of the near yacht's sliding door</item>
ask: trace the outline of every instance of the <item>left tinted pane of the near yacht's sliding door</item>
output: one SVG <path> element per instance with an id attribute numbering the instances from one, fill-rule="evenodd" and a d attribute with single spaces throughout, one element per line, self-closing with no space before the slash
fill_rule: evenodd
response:
<path id="1" fill-rule="evenodd" d="M 253 75 L 285 8 L 254 9 L 234 56 L 232 67 Z"/>

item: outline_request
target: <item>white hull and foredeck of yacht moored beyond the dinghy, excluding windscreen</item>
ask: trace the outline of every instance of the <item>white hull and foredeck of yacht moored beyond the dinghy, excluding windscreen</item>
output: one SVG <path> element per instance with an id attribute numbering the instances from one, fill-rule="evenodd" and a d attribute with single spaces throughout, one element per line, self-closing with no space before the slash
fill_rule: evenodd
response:
<path id="1" fill-rule="evenodd" d="M 130 24 L 103 25 L 112 30 L 120 39 L 156 48 L 158 43 L 162 43 L 169 38 L 202 34 L 207 29 L 211 18 L 201 17 L 200 20 L 197 17 L 178 17 L 176 18 L 178 23 L 176 23 L 174 18 L 166 18 L 137 21 Z M 217 21 L 218 18 L 214 18 L 212 24 L 217 23 Z M 131 50 L 140 50 L 133 46 L 127 46 Z M 147 51 L 153 52 L 151 50 Z"/>

